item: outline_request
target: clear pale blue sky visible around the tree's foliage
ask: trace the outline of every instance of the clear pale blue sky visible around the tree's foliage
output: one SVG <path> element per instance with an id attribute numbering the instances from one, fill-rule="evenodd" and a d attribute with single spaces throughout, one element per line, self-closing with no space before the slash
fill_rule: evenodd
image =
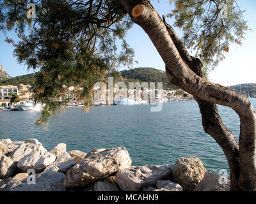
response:
<path id="1" fill-rule="evenodd" d="M 248 25 L 253 31 L 248 31 L 241 47 L 232 45 L 225 60 L 210 73 L 210 80 L 221 85 L 256 83 L 254 62 L 256 48 L 256 1 L 237 0 L 237 3 L 241 10 L 246 10 L 244 19 L 248 21 Z M 160 15 L 164 15 L 172 10 L 172 5 L 170 6 L 168 0 L 160 1 L 160 3 L 154 0 L 152 4 Z M 172 21 L 169 19 L 168 23 L 172 25 Z M 175 28 L 175 31 L 181 36 L 182 33 L 177 28 Z M 15 36 L 13 33 L 10 34 L 11 36 Z M 134 68 L 152 67 L 164 71 L 165 66 L 163 60 L 141 27 L 134 24 L 127 34 L 127 41 L 134 48 L 135 60 L 138 61 L 138 64 L 134 63 Z M 27 71 L 25 65 L 17 63 L 17 60 L 13 57 L 13 47 L 4 42 L 2 33 L 0 36 L 0 51 L 0 64 L 4 66 L 4 70 L 11 77 L 26 75 L 32 72 Z"/>

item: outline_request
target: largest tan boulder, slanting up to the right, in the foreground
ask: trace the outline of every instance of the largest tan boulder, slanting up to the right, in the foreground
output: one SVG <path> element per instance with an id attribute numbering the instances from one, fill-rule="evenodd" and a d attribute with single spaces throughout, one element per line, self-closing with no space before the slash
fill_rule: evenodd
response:
<path id="1" fill-rule="evenodd" d="M 118 170 L 129 168 L 131 163 L 129 153 L 124 147 L 93 149 L 67 172 L 63 185 L 68 188 L 83 187 Z"/>

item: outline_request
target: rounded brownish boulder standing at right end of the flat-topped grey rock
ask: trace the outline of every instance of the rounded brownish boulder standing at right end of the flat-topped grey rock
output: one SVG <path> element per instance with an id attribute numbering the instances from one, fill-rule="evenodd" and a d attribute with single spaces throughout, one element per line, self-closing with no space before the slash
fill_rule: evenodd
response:
<path id="1" fill-rule="evenodd" d="M 184 191 L 193 191 L 204 178 L 206 169 L 198 157 L 181 157 L 173 166 L 173 182 L 180 184 Z"/>

